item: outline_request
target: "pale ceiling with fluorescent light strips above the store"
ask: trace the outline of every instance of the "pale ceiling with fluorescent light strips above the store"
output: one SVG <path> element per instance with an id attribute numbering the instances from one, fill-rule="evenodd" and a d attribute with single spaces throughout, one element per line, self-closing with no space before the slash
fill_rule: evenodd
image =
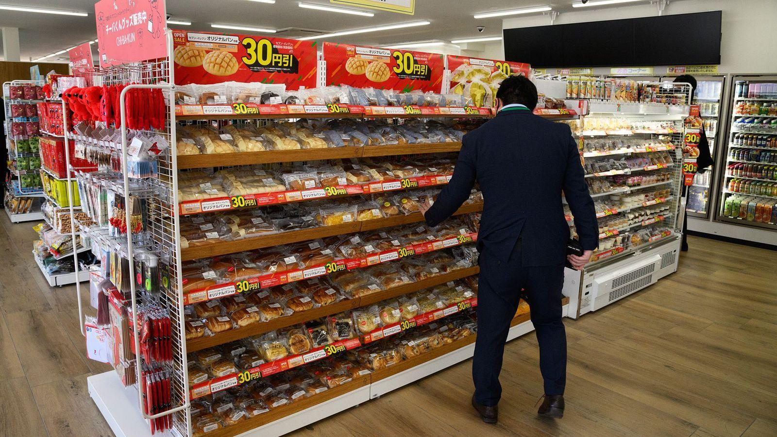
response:
<path id="1" fill-rule="evenodd" d="M 331 5 L 328 0 L 305 1 Z M 24 61 L 40 58 L 96 38 L 94 3 L 94 0 L 0 0 L 0 4 L 5 5 L 89 12 L 87 17 L 76 17 L 0 10 L 0 26 L 19 27 Z M 477 12 L 537 5 L 551 5 L 554 10 L 563 12 L 571 10 L 571 4 L 572 0 L 416 0 L 414 16 L 374 10 L 371 11 L 375 12 L 374 17 L 364 17 L 301 9 L 297 0 L 277 0 L 274 5 L 247 0 L 167 0 L 167 12 L 171 19 L 183 19 L 193 23 L 192 26 L 170 26 L 174 29 L 210 31 L 219 31 L 211 29 L 211 23 L 335 32 L 410 21 L 432 22 L 428 26 L 333 38 L 333 41 L 342 43 L 389 45 L 413 40 L 452 40 L 500 35 L 501 18 L 474 19 L 472 15 Z M 548 23 L 550 24 L 549 18 Z M 486 30 L 479 33 L 476 26 L 486 26 Z M 298 30 L 275 34 L 277 37 L 292 38 L 306 35 L 310 33 Z M 57 57 L 48 58 L 47 61 L 56 59 Z"/>

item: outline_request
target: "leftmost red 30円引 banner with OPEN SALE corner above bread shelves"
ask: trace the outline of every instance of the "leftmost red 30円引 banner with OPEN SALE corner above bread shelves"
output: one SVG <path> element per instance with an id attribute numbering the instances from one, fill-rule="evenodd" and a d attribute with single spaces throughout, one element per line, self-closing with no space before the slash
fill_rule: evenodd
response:
<path id="1" fill-rule="evenodd" d="M 228 81 L 315 88 L 315 42 L 228 33 L 172 31 L 176 85 Z"/>

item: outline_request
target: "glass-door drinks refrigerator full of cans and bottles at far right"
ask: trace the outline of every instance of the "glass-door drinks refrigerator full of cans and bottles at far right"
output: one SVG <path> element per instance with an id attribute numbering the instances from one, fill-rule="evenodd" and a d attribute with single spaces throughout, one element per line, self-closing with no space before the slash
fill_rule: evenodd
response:
<path id="1" fill-rule="evenodd" d="M 716 219 L 777 229 L 777 75 L 733 76 Z M 720 167 L 719 167 L 720 168 Z"/>

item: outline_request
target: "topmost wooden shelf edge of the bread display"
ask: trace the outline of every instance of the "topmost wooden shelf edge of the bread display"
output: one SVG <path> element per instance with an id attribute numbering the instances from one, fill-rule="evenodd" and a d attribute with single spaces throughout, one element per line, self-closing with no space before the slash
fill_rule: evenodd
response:
<path id="1" fill-rule="evenodd" d="M 248 166 L 251 164 L 291 163 L 318 159 L 348 159 L 374 156 L 420 155 L 457 152 L 461 142 L 433 142 L 408 145 L 366 145 L 330 149 L 267 150 L 266 152 L 211 153 L 178 157 L 178 170 L 206 167 Z"/>

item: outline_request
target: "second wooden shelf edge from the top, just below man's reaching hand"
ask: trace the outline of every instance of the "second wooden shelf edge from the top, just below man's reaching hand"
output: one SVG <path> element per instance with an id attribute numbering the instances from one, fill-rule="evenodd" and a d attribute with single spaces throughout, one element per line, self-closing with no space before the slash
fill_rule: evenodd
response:
<path id="1" fill-rule="evenodd" d="M 469 214 L 483 210 L 483 203 L 465 205 L 459 208 L 454 215 Z M 325 238 L 354 232 L 389 228 L 396 225 L 423 222 L 423 215 L 415 212 L 409 215 L 395 215 L 394 217 L 376 218 L 364 222 L 350 222 L 342 225 L 322 226 L 312 229 L 300 229 L 297 231 L 280 232 L 255 238 L 239 239 L 235 241 L 219 241 L 218 243 L 204 244 L 201 246 L 187 247 L 181 250 L 181 260 L 197 260 L 200 258 L 216 257 L 228 253 L 242 252 L 243 250 L 262 249 L 264 247 L 279 246 L 280 244 L 298 243 L 309 239 Z"/>

